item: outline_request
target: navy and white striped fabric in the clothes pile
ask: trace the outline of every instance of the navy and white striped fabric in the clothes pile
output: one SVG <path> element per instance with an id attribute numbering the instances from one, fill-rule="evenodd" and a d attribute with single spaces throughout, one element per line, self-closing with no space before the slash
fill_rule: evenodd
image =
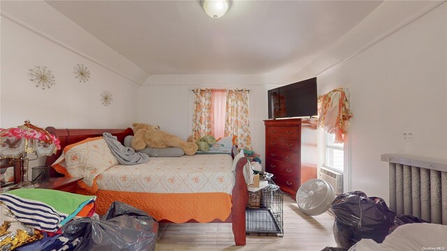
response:
<path id="1" fill-rule="evenodd" d="M 59 223 L 68 217 L 68 214 L 58 212 L 40 201 L 22 199 L 8 193 L 2 193 L 0 201 L 10 208 L 17 220 L 39 230 L 55 232 L 60 227 Z"/>

